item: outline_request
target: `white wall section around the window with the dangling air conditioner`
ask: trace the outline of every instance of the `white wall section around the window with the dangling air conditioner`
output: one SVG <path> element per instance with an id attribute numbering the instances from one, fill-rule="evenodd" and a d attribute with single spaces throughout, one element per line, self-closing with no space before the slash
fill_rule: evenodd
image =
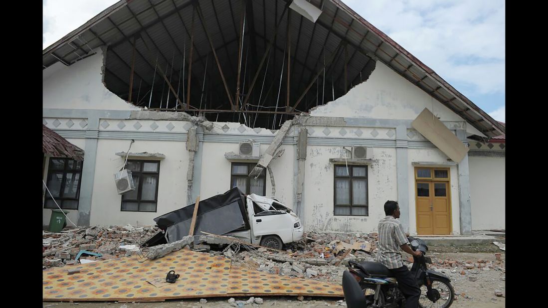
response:
<path id="1" fill-rule="evenodd" d="M 130 152 L 162 153 L 158 179 L 156 213 L 122 212 L 113 174 L 124 164 L 117 152 L 126 152 L 130 140 L 99 139 L 91 208 L 91 225 L 149 225 L 153 218 L 186 206 L 189 155 L 184 141 L 135 140 Z"/>

